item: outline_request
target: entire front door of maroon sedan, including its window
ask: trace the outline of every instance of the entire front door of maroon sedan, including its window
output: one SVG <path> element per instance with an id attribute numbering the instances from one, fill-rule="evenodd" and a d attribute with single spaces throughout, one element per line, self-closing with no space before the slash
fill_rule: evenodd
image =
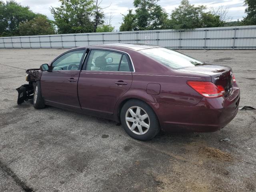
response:
<path id="1" fill-rule="evenodd" d="M 56 58 L 49 71 L 42 73 L 40 82 L 46 104 L 81 110 L 77 82 L 85 55 L 85 49 L 70 50 Z"/>

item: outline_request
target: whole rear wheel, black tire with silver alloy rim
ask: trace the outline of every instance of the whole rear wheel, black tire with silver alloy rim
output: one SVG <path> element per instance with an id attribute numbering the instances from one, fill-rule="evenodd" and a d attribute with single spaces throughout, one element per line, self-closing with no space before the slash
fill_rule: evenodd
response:
<path id="1" fill-rule="evenodd" d="M 128 100 L 121 109 L 120 120 L 125 132 L 137 140 L 151 140 L 160 131 L 156 114 L 140 100 Z"/>

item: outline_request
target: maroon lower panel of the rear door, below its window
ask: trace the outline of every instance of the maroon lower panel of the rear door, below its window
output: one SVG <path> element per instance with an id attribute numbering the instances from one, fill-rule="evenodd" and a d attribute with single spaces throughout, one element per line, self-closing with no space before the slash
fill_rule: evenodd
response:
<path id="1" fill-rule="evenodd" d="M 131 84 L 132 72 L 82 71 L 78 81 L 82 110 L 113 114 L 117 100 Z"/>

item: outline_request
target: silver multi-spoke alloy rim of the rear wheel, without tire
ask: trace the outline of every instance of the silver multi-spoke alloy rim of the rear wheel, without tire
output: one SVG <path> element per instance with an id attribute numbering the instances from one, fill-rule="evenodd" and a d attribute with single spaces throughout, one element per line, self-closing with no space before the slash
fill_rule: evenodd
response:
<path id="1" fill-rule="evenodd" d="M 125 114 L 128 128 L 135 134 L 143 135 L 150 128 L 150 119 L 144 109 L 139 106 L 130 107 Z"/>

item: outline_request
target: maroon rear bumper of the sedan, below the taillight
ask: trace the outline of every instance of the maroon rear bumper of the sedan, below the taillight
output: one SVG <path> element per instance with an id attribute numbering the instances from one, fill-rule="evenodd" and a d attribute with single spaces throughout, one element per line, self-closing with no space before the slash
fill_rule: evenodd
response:
<path id="1" fill-rule="evenodd" d="M 196 106 L 148 103 L 166 132 L 214 132 L 226 126 L 237 114 L 240 90 L 228 97 L 203 98 Z"/>

